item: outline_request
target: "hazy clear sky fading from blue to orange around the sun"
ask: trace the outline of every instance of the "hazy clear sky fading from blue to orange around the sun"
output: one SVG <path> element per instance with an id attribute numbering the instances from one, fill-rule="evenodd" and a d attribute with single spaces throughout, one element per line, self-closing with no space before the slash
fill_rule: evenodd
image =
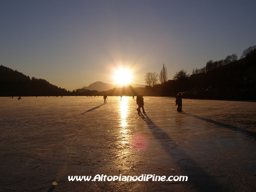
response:
<path id="1" fill-rule="evenodd" d="M 256 45 L 255 0 L 1 0 L 0 65 L 74 90 L 113 83 L 120 65 L 145 84 Z"/>

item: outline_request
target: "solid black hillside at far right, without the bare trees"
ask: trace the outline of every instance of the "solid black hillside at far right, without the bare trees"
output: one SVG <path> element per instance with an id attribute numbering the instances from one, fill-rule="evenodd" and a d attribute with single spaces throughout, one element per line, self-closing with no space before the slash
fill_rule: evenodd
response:
<path id="1" fill-rule="evenodd" d="M 177 87 L 183 98 L 256 99 L 256 49 L 237 61 L 192 74 L 186 84 Z"/>

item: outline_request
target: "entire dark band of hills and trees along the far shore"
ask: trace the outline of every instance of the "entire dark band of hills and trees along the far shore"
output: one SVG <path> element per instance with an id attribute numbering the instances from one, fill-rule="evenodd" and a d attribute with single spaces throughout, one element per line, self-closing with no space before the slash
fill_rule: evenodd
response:
<path id="1" fill-rule="evenodd" d="M 160 83 L 159 83 L 160 82 Z M 176 96 L 192 99 L 256 99 L 256 46 L 224 60 L 209 60 L 205 67 L 193 69 L 192 75 L 182 69 L 173 79 L 167 78 L 165 64 L 160 75 L 145 73 L 146 87 L 119 87 L 108 91 L 66 90 L 44 79 L 30 78 L 17 70 L 0 66 L 0 96 Z"/>

